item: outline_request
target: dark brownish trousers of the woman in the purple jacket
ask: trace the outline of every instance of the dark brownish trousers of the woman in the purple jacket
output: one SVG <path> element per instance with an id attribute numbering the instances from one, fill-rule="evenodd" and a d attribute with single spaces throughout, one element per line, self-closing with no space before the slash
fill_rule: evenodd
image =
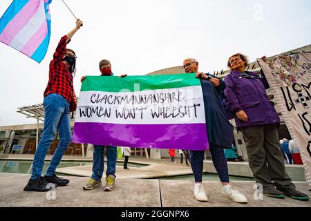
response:
<path id="1" fill-rule="evenodd" d="M 246 141 L 249 167 L 256 182 L 280 189 L 294 188 L 284 166 L 279 134 L 274 124 L 241 128 Z M 273 182 L 274 183 L 273 183 Z"/>

